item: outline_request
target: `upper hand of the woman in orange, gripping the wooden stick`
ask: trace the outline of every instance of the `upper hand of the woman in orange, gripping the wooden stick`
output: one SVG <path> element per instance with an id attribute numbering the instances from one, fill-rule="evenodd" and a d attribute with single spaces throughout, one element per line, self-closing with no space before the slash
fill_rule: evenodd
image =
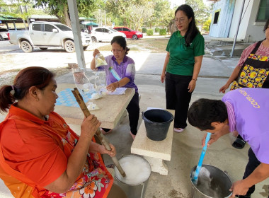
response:
<path id="1" fill-rule="evenodd" d="M 89 115 L 81 124 L 81 138 L 86 137 L 91 139 L 96 134 L 101 122 L 94 115 Z"/>

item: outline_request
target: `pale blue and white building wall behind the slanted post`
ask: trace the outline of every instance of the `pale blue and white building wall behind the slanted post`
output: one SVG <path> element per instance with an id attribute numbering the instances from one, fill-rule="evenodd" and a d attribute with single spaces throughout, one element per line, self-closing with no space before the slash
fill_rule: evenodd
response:
<path id="1" fill-rule="evenodd" d="M 258 14 L 258 8 L 261 0 L 245 0 L 245 2 L 244 0 L 235 0 L 232 18 L 230 17 L 231 13 L 224 12 L 225 8 L 227 10 L 227 4 L 231 4 L 231 1 L 232 0 L 220 0 L 214 4 L 212 12 L 212 23 L 210 25 L 210 36 L 229 37 L 234 39 L 237 26 L 239 24 L 241 7 L 244 3 L 237 40 L 244 40 L 244 42 L 256 42 L 265 38 L 263 33 L 265 22 L 256 22 L 256 16 Z M 214 11 L 218 9 L 221 10 L 219 23 L 213 24 Z M 229 32 L 227 33 L 228 28 Z"/>

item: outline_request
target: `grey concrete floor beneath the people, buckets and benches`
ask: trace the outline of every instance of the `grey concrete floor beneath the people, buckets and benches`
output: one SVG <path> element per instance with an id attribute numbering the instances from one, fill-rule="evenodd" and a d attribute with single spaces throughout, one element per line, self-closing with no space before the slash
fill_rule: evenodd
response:
<path id="1" fill-rule="evenodd" d="M 131 57 L 137 57 L 137 53 L 130 53 Z M 145 57 L 141 60 L 141 57 Z M 147 110 L 147 107 L 166 107 L 164 84 L 160 82 L 160 74 L 164 63 L 165 54 L 140 54 L 139 71 L 137 71 L 135 82 L 139 88 L 140 112 Z M 136 60 L 136 59 L 135 59 Z M 223 94 L 219 88 L 227 81 L 227 77 L 233 71 L 238 62 L 236 59 L 216 59 L 205 57 L 198 78 L 197 86 L 193 93 L 191 103 L 198 98 L 221 99 Z M 57 83 L 68 83 L 73 81 L 71 74 L 57 78 Z M 1 118 L 1 117 L 0 117 Z M 139 117 L 139 124 L 142 117 Z M 113 133 L 106 134 L 108 139 L 117 148 L 117 157 L 130 154 L 132 137 L 130 136 L 129 121 L 125 117 L 120 124 L 113 129 Z M 201 139 L 204 132 L 188 127 L 181 134 L 173 134 L 173 146 L 171 161 L 168 165 L 168 175 L 151 173 L 147 186 L 145 198 L 186 198 L 190 197 L 191 183 L 190 170 L 198 164 L 202 151 Z M 227 171 L 231 181 L 240 180 L 244 174 L 244 168 L 248 161 L 248 145 L 239 150 L 233 148 L 231 143 L 234 136 L 227 135 L 219 139 L 207 149 L 204 164 L 213 165 L 221 170 Z M 157 144 L 157 143 L 156 143 Z M 112 163 L 109 157 L 105 156 L 105 164 Z M 1 182 L 1 181 L 0 181 Z M 256 192 L 253 198 L 266 197 L 268 193 L 269 180 L 256 185 Z M 268 194 L 267 194 L 268 196 Z M 0 183 L 0 197 L 12 197 L 3 183 Z"/>

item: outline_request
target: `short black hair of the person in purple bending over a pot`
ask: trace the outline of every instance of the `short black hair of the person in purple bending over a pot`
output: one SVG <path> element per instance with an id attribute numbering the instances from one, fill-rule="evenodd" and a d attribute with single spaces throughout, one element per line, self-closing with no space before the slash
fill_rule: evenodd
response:
<path id="1" fill-rule="evenodd" d="M 203 131 L 214 129 L 211 126 L 212 122 L 224 122 L 227 118 L 227 107 L 222 100 L 201 98 L 196 100 L 188 110 L 188 122 Z"/>

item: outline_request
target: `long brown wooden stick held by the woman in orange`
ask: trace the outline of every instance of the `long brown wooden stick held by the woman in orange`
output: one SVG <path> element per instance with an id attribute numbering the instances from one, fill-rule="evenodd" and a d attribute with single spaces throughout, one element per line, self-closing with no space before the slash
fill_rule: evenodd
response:
<path id="1" fill-rule="evenodd" d="M 74 91 L 72 91 L 72 93 L 74 94 L 74 97 L 76 98 L 76 102 L 79 103 L 79 107 L 81 107 L 82 112 L 84 112 L 84 115 L 86 117 L 88 117 L 89 115 L 91 115 L 90 111 L 88 110 L 88 108 L 86 107 L 86 104 L 84 103 L 84 100 L 81 96 L 81 94 L 79 93 L 79 90 L 77 88 L 74 88 Z M 96 135 L 98 136 L 98 139 L 100 139 L 100 141 L 102 142 L 103 146 L 105 146 L 105 148 L 108 151 L 111 151 L 111 147 L 108 144 L 108 142 L 105 140 L 105 136 L 101 133 L 100 128 L 98 128 Z M 122 177 L 125 177 L 126 174 L 124 172 L 124 170 L 122 169 L 118 159 L 114 156 L 111 157 L 115 166 L 118 168 L 120 174 L 122 175 Z"/>

